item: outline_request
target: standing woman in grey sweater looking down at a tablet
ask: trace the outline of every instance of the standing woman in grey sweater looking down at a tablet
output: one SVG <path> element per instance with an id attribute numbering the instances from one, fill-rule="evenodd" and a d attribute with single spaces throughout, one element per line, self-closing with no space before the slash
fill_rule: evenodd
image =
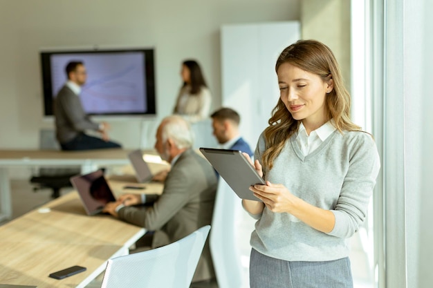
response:
<path id="1" fill-rule="evenodd" d="M 257 219 L 250 287 L 353 287 L 349 238 L 376 184 L 376 144 L 351 122 L 350 95 L 327 46 L 297 41 L 275 70 L 280 97 L 251 162 L 266 184 L 250 187 L 261 202 L 242 202 Z"/>

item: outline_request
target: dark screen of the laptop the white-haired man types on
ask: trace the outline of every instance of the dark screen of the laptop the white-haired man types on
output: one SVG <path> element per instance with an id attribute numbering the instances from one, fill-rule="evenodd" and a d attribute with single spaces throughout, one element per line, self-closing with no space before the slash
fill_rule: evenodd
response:
<path id="1" fill-rule="evenodd" d="M 116 201 L 102 170 L 73 176 L 71 183 L 80 195 L 87 215 L 101 213 L 105 204 Z"/>

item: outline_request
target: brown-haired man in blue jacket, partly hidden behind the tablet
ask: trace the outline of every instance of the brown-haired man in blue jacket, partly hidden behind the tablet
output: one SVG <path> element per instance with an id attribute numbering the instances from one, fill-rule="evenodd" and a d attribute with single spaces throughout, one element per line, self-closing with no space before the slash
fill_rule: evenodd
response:
<path id="1" fill-rule="evenodd" d="M 239 133 L 241 117 L 236 111 L 231 108 L 220 108 L 212 113 L 210 117 L 212 117 L 214 136 L 221 148 L 239 150 L 248 153 L 252 157 L 254 153 L 252 153 L 250 146 Z"/>

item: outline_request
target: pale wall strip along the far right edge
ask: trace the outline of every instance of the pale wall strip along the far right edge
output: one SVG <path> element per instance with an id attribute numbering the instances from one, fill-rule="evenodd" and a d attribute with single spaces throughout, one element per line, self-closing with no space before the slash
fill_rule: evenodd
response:
<path id="1" fill-rule="evenodd" d="M 401 0 L 404 10 L 405 213 L 407 287 L 433 286 L 433 2 Z M 392 236 L 390 236 L 392 237 Z M 393 276 L 391 276 L 393 277 Z"/>

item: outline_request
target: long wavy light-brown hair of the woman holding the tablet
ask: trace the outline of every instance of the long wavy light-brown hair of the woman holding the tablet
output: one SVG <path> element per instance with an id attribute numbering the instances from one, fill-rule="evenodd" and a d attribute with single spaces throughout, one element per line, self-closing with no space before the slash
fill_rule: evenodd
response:
<path id="1" fill-rule="evenodd" d="M 315 40 L 299 40 L 285 48 L 277 59 L 275 72 L 284 63 L 290 63 L 309 73 L 322 78 L 323 81 L 333 79 L 333 90 L 326 95 L 326 113 L 333 119 L 335 128 L 342 131 L 360 131 L 360 127 L 350 119 L 350 95 L 344 87 L 342 75 L 337 61 L 328 46 Z M 293 119 L 281 98 L 273 108 L 268 120 L 269 126 L 264 131 L 265 151 L 262 163 L 268 169 L 273 167 L 275 157 L 279 155 L 284 143 L 300 126 L 300 121 Z"/>

